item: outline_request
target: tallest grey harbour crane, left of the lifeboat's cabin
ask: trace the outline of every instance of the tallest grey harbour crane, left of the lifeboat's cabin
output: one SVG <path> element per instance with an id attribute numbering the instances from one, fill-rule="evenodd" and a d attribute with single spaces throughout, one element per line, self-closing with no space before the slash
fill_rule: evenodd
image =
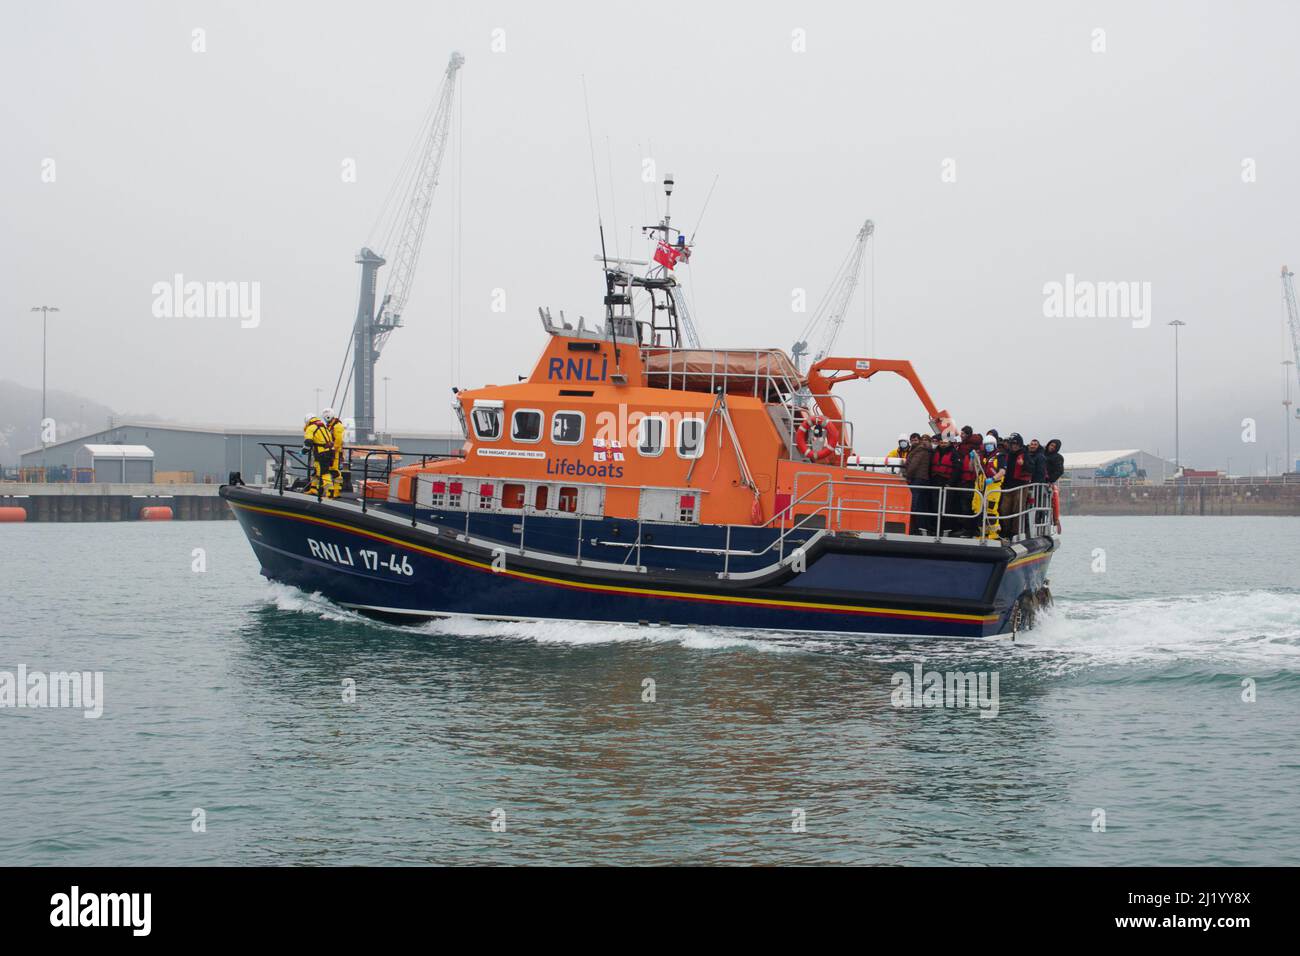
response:
<path id="1" fill-rule="evenodd" d="M 452 53 L 443 74 L 442 88 L 433 107 L 424 137 L 413 163 L 408 164 L 393 186 L 390 199 L 396 198 L 394 219 L 384 239 L 389 250 L 393 269 L 389 271 L 384 297 L 376 310 L 378 271 L 389 259 L 373 251 L 369 246 L 356 254 L 355 261 L 361 267 L 361 291 L 356 304 L 356 321 L 348 352 L 352 359 L 352 418 L 356 436 L 361 441 L 374 440 L 374 364 L 380 359 L 385 342 L 393 330 L 402 325 L 402 312 L 411 297 L 415 282 L 416 264 L 420 260 L 420 247 L 424 245 L 425 226 L 429 225 L 429 208 L 433 193 L 438 186 L 438 170 L 447 151 L 451 131 L 451 105 L 456 92 L 456 73 L 464 66 L 465 57 Z M 387 208 L 387 207 L 386 207 Z M 404 211 L 404 212 L 403 212 Z M 382 215 L 381 215 L 382 219 Z M 347 364 L 347 356 L 343 359 Z M 343 376 L 339 376 L 341 382 Z M 343 398 L 347 388 L 343 389 Z M 335 399 L 338 385 L 335 385 Z M 338 402 L 335 402 L 337 407 Z"/>

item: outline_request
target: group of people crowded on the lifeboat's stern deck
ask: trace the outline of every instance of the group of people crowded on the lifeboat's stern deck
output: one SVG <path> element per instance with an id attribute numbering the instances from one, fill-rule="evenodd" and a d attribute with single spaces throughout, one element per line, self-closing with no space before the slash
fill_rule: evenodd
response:
<path id="1" fill-rule="evenodd" d="M 901 472 L 911 486 L 910 533 L 998 538 L 1006 514 L 1009 537 L 1024 533 L 1031 510 L 1052 507 L 1048 496 L 1036 499 L 1032 485 L 1056 485 L 1065 472 L 1061 440 L 1028 444 L 1018 432 L 1005 438 L 996 428 L 983 434 L 970 425 L 954 434 L 900 434 L 888 453 L 901 458 Z M 940 494 L 940 489 L 949 489 Z M 939 503 L 942 497 L 942 520 Z M 987 511 L 985 511 L 987 506 Z"/>

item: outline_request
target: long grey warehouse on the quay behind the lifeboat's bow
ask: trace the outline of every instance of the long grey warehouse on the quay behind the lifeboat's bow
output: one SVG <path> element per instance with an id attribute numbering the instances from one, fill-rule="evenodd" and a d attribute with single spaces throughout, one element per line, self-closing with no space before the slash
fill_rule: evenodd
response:
<path id="1" fill-rule="evenodd" d="M 240 428 L 234 425 L 181 425 L 172 421 L 120 421 L 101 432 L 65 438 L 44 449 L 29 449 L 21 455 L 21 470 L 30 472 L 44 463 L 51 480 L 73 480 L 74 475 L 92 468 L 99 480 L 100 466 L 88 447 L 144 446 L 152 453 L 150 472 L 155 481 L 181 481 L 222 484 L 230 472 L 238 471 L 250 484 L 260 484 L 270 470 L 272 455 L 261 446 L 303 444 L 302 428 Z M 460 450 L 464 438 L 447 432 L 404 432 L 386 436 L 384 444 L 396 445 L 415 455 L 446 455 Z M 104 473 L 114 467 L 103 453 Z M 121 460 L 117 462 L 121 473 Z M 142 473 L 139 464 L 129 466 L 131 473 Z M 78 471 L 81 470 L 81 471 Z M 62 477 L 58 477 L 62 476 Z M 138 480 L 138 479 L 129 479 Z M 148 479 L 147 479 L 148 480 Z"/>

